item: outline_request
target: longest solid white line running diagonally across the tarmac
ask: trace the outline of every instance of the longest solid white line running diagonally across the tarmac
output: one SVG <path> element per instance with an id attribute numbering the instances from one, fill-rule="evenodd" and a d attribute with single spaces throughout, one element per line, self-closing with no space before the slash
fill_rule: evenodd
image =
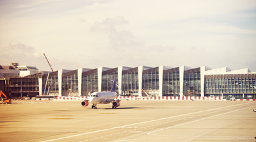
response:
<path id="1" fill-rule="evenodd" d="M 252 103 L 254 103 L 254 102 L 248 102 L 246 104 L 252 104 Z M 208 110 L 205 110 L 205 111 L 213 111 L 213 110 L 217 110 L 217 109 L 224 109 L 224 108 L 227 108 L 227 107 L 241 106 L 241 105 L 246 105 L 246 104 L 236 104 L 236 105 L 233 105 L 233 106 L 219 107 L 219 108 L 215 108 L 215 109 L 208 109 Z M 49 140 L 42 141 L 42 142 L 56 141 L 56 140 L 60 140 L 60 139 L 67 139 L 67 138 L 72 138 L 72 137 L 76 137 L 76 136 L 82 136 L 84 134 L 92 134 L 92 133 L 95 133 L 95 132 L 113 130 L 113 129 L 118 129 L 118 128 L 122 128 L 122 127 L 128 127 L 128 126 L 131 126 L 131 125 L 138 125 L 138 124 L 141 124 L 141 123 L 156 122 L 156 121 L 159 121 L 159 120 L 166 120 L 166 119 L 169 119 L 169 118 L 175 118 L 175 117 L 179 117 L 179 116 L 186 116 L 186 115 L 190 115 L 190 114 L 203 113 L 205 111 L 198 111 L 198 112 L 195 112 L 195 113 L 188 113 L 188 114 L 180 114 L 180 115 L 177 115 L 177 116 L 170 116 L 170 117 L 166 117 L 166 118 L 160 118 L 160 119 L 157 119 L 157 120 L 150 120 L 150 121 L 147 121 L 147 122 L 133 123 L 133 124 L 124 125 L 124 126 L 121 126 L 121 127 L 113 127 L 113 128 L 109 128 L 109 129 L 96 130 L 96 131 L 93 131 L 93 132 L 86 132 L 86 133 L 83 133 L 83 134 L 76 134 L 76 135 L 73 135 L 73 136 L 67 136 L 67 137 L 63 137 L 63 138 L 49 139 Z"/>

